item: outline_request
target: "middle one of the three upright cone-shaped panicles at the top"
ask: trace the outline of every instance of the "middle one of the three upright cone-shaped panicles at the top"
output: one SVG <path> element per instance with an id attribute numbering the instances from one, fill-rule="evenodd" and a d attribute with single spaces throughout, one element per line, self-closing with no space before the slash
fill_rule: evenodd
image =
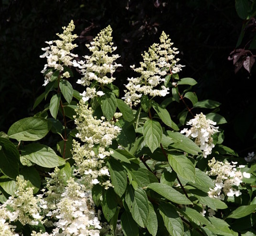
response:
<path id="1" fill-rule="evenodd" d="M 96 80 L 98 83 L 105 85 L 115 80 L 112 74 L 121 64 L 115 62 L 120 56 L 112 54 L 117 47 L 113 47 L 111 35 L 112 29 L 110 26 L 101 30 L 93 42 L 86 44 L 92 55 L 84 56 L 85 61 L 73 61 L 73 65 L 81 69 L 83 75 L 81 79 L 78 79 L 78 84 L 90 86 L 92 81 Z"/>

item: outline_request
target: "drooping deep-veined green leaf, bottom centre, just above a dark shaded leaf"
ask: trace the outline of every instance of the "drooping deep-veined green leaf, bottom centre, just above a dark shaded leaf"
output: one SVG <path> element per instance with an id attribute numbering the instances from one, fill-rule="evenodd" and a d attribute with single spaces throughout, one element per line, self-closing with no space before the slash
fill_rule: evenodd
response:
<path id="1" fill-rule="evenodd" d="M 133 187 L 128 186 L 125 201 L 133 219 L 136 220 L 139 226 L 145 227 L 149 216 L 149 203 L 146 192 L 141 187 L 134 190 Z"/>

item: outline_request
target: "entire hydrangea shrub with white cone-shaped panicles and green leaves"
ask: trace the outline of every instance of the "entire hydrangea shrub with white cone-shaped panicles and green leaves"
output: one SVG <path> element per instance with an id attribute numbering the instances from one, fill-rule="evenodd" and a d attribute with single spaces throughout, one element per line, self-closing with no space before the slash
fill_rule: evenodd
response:
<path id="1" fill-rule="evenodd" d="M 169 36 L 131 66 L 122 97 L 111 27 L 82 57 L 74 22 L 63 30 L 40 56 L 45 92 L 34 108 L 50 102 L 0 133 L 0 234 L 256 235 L 255 155 L 222 145 L 220 104 L 198 101 L 196 80 L 179 78 Z M 40 143 L 49 132 L 51 147 Z"/>

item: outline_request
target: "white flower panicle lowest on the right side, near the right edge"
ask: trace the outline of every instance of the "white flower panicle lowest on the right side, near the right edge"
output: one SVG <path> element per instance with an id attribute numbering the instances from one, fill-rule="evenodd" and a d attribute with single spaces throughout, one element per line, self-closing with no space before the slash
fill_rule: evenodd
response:
<path id="1" fill-rule="evenodd" d="M 237 162 L 227 162 L 216 161 L 215 158 L 211 159 L 208 166 L 211 168 L 207 172 L 209 176 L 216 176 L 214 182 L 214 188 L 210 188 L 208 192 L 209 197 L 219 198 L 224 200 L 225 196 L 236 197 L 240 196 L 242 193 L 237 187 L 243 182 L 243 177 L 250 178 L 250 174 L 246 172 L 241 172 L 241 168 L 245 167 L 243 165 L 238 166 L 240 170 L 236 168 Z M 236 186 L 236 187 L 235 187 Z"/>

